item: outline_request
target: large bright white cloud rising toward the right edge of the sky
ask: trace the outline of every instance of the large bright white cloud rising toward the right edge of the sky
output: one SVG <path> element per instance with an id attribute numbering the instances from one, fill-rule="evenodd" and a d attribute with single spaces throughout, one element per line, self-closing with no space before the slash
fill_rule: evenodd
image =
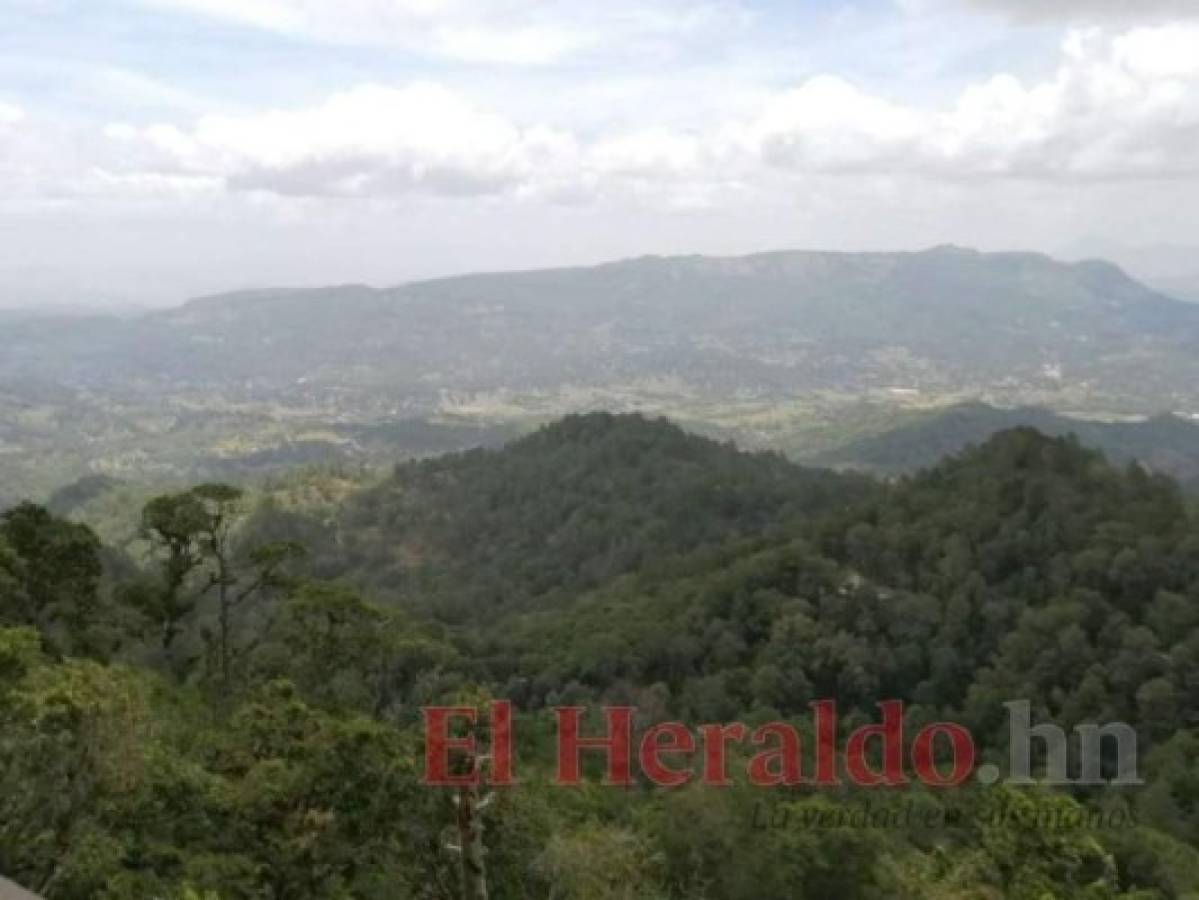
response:
<path id="1" fill-rule="evenodd" d="M 746 131 L 769 164 L 946 179 L 1199 175 L 1199 26 L 1073 31 L 1048 80 L 999 73 L 918 108 L 833 77 L 771 99 Z"/>

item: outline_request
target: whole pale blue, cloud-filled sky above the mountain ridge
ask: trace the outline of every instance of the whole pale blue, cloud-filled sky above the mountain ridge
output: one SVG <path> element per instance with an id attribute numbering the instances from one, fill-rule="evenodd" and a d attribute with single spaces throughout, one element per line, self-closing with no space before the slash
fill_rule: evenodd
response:
<path id="1" fill-rule="evenodd" d="M 1199 2 L 0 0 L 0 307 L 939 243 L 1199 255 Z"/>

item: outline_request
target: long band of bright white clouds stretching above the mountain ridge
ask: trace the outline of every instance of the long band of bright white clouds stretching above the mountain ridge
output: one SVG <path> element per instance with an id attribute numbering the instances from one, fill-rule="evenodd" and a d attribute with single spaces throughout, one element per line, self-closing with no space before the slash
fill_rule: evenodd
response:
<path id="1" fill-rule="evenodd" d="M 670 207 L 814 175 L 1199 180 L 1199 24 L 1076 30 L 1050 77 L 996 73 L 940 105 L 818 75 L 688 132 L 663 125 L 583 135 L 415 83 L 361 85 L 306 109 L 108 133 L 123 147 L 126 174 L 283 197 L 626 195 Z"/>

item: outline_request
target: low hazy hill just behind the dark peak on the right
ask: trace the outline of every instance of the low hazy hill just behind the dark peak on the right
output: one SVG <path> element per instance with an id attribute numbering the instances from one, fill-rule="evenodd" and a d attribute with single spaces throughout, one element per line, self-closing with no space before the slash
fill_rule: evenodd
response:
<path id="1" fill-rule="evenodd" d="M 1135 422 L 1096 422 L 1040 407 L 1008 410 L 982 403 L 929 413 L 918 422 L 814 457 L 813 461 L 884 473 L 912 472 L 1012 428 L 1035 428 L 1053 436 L 1073 434 L 1115 463 L 1137 460 L 1185 483 L 1199 481 L 1197 422 L 1175 415 Z"/>

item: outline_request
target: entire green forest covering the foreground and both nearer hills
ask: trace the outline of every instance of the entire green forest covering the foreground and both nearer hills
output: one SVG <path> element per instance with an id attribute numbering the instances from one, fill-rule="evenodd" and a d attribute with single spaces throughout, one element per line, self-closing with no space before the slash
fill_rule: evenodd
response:
<path id="1" fill-rule="evenodd" d="M 490 697 L 500 900 L 1199 896 L 1197 512 L 1077 439 L 882 482 L 596 413 L 329 503 L 153 496 L 121 546 L 68 506 L 0 517 L 0 872 L 50 900 L 460 896 L 421 707 Z M 829 697 L 980 765 L 1010 700 L 1126 721 L 1145 784 L 552 783 L 554 706 L 808 738 Z"/>

